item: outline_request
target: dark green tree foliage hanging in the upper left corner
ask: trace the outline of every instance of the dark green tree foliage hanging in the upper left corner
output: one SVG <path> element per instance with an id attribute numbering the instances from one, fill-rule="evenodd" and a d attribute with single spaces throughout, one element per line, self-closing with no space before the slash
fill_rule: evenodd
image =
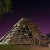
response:
<path id="1" fill-rule="evenodd" d="M 11 0 L 0 0 L 0 15 L 11 12 Z"/>

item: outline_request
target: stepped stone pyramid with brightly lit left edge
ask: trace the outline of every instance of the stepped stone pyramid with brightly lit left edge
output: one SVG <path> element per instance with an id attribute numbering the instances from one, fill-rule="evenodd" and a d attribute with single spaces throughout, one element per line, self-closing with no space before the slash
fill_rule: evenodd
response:
<path id="1" fill-rule="evenodd" d="M 50 39 L 30 19 L 21 18 L 1 39 L 0 44 L 49 46 Z"/>

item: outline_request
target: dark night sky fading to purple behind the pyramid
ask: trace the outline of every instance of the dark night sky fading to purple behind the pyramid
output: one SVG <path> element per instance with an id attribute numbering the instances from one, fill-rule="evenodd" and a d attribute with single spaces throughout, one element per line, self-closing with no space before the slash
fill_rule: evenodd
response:
<path id="1" fill-rule="evenodd" d="M 0 37 L 22 17 L 32 19 L 41 31 L 50 33 L 50 1 L 12 0 L 12 13 L 0 16 Z"/>

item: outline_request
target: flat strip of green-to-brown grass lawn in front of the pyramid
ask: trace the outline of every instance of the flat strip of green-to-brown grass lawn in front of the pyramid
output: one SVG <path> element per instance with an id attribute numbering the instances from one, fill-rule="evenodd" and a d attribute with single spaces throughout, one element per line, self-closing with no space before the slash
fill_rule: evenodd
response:
<path id="1" fill-rule="evenodd" d="M 50 48 L 30 45 L 0 45 L 0 50 L 50 50 Z"/>

